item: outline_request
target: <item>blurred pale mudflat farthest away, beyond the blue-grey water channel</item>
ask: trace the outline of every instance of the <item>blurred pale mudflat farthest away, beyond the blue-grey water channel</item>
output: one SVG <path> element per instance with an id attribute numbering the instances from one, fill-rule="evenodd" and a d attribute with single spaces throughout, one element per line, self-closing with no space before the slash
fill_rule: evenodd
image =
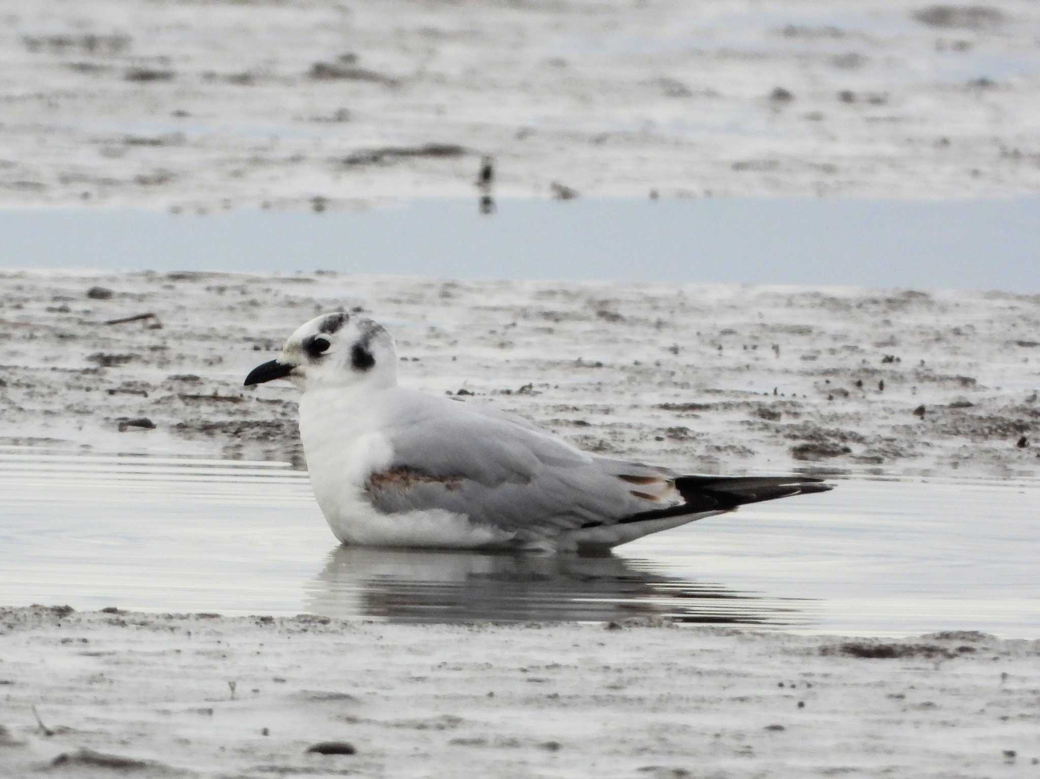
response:
<path id="1" fill-rule="evenodd" d="M 1040 187 L 1035 3 L 7 0 L 0 204 Z M 556 189 L 555 191 L 560 191 Z"/>

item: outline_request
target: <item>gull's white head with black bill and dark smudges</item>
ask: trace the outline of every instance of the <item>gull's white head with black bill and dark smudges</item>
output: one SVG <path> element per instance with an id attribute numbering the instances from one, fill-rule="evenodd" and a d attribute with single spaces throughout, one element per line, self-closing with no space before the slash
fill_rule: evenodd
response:
<path id="1" fill-rule="evenodd" d="M 289 335 L 281 354 L 257 366 L 245 386 L 288 379 L 304 392 L 317 387 L 397 383 L 397 351 L 383 325 L 333 312 L 315 317 Z"/>

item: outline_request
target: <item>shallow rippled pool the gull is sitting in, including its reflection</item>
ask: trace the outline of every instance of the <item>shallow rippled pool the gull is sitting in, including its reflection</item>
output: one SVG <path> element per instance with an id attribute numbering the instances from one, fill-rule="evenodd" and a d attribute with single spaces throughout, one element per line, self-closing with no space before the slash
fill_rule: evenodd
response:
<path id="1" fill-rule="evenodd" d="M 601 558 L 347 548 L 271 462 L 0 448 L 0 605 L 1040 635 L 1037 481 L 843 478 Z"/>

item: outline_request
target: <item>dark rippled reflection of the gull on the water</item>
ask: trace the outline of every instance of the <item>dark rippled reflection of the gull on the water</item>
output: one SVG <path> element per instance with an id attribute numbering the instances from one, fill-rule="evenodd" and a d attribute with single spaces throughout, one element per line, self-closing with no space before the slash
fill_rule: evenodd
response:
<path id="1" fill-rule="evenodd" d="M 400 622 L 606 621 L 671 617 L 706 624 L 790 625 L 806 601 L 740 593 L 647 561 L 338 546 L 307 586 L 307 609 Z"/>

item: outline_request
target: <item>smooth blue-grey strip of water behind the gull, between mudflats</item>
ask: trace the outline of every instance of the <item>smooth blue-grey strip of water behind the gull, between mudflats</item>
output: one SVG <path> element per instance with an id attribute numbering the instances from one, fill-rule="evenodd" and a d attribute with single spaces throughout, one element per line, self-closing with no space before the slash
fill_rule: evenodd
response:
<path id="1" fill-rule="evenodd" d="M 1040 197 L 411 200 L 324 213 L 0 211 L 0 267 L 1040 293 Z"/>

